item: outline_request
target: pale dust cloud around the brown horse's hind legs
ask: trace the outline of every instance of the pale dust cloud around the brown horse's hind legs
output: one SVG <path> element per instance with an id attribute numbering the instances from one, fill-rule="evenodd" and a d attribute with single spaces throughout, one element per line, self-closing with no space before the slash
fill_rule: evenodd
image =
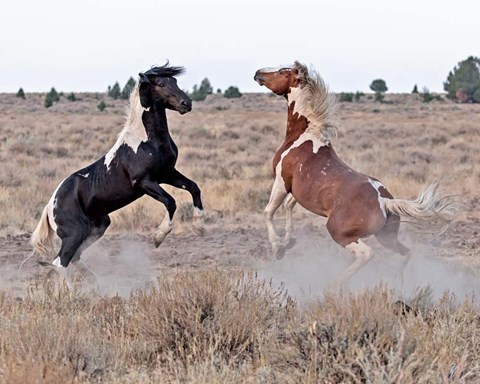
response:
<path id="1" fill-rule="evenodd" d="M 400 273 L 402 256 L 385 250 L 374 239 L 367 239 L 374 257 L 351 278 L 349 291 L 358 293 L 386 285 L 399 298 L 407 299 L 420 289 L 428 288 L 432 299 L 439 299 L 448 292 L 459 303 L 468 297 L 478 304 L 478 277 L 453 262 L 447 263 L 435 257 L 435 249 L 431 245 L 402 241 L 412 251 L 403 279 Z M 283 284 L 288 293 L 299 301 L 310 301 L 321 300 L 325 291 L 340 289 L 337 278 L 353 260 L 354 256 L 333 240 L 313 239 L 299 233 L 297 244 L 287 251 L 282 260 L 258 263 L 255 267 L 260 278 L 272 280 L 275 285 Z"/>

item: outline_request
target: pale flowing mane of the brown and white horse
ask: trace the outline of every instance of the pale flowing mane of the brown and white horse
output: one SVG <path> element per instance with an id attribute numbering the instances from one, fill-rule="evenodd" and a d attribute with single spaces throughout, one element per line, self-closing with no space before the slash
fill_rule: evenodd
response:
<path id="1" fill-rule="evenodd" d="M 300 86 L 293 88 L 292 101 L 295 100 L 295 112 L 305 116 L 312 127 L 320 129 L 323 137 L 329 140 L 336 136 L 336 126 L 333 121 L 337 99 L 330 93 L 327 84 L 313 68 L 310 71 L 298 61 L 293 68 L 299 72 Z M 290 97 L 289 97 L 290 102 Z"/>

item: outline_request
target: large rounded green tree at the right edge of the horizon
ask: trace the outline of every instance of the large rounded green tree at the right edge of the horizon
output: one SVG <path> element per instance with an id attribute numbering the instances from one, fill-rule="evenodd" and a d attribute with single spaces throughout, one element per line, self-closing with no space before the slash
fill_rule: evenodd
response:
<path id="1" fill-rule="evenodd" d="M 480 58 L 470 56 L 450 71 L 443 83 L 447 97 L 461 102 L 480 102 Z"/>

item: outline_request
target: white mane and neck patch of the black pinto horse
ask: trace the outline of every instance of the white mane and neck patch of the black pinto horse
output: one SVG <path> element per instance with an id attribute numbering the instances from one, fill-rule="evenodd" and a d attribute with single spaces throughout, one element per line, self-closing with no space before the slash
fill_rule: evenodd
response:
<path id="1" fill-rule="evenodd" d="M 136 153 L 138 146 L 143 141 L 147 141 L 147 132 L 142 121 L 142 114 L 145 108 L 140 104 L 140 94 L 138 84 L 132 90 L 130 94 L 130 103 L 125 109 L 125 124 L 123 129 L 118 134 L 117 141 L 112 148 L 105 155 L 105 165 L 107 168 L 110 166 L 110 162 L 115 157 L 117 149 L 122 144 L 127 144 Z"/>

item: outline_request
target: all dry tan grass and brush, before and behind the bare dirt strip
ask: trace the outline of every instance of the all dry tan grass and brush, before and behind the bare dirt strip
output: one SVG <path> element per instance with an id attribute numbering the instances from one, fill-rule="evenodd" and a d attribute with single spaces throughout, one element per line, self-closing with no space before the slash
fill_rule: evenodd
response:
<path id="1" fill-rule="evenodd" d="M 29 234 L 58 183 L 96 160 L 123 124 L 122 101 L 82 94 L 50 109 L 43 95 L 0 95 L 0 237 Z M 480 271 L 480 108 L 343 103 L 335 148 L 395 195 L 415 197 L 444 178 L 465 213 L 444 239 L 445 258 Z M 210 228 L 248 223 L 263 231 L 271 158 L 283 139 L 285 101 L 266 94 L 196 103 L 169 114 L 178 169 L 202 189 Z M 191 198 L 178 202 L 175 233 L 189 231 Z M 111 234 L 150 235 L 164 208 L 142 198 L 112 215 Z M 296 218 L 304 218 L 301 210 Z M 212 229 L 211 229 L 212 230 Z M 452 252 L 453 250 L 453 252 Z M 233 250 L 234 251 L 234 250 Z M 181 250 L 179 250 L 181 252 Z M 440 250 L 440 256 L 442 252 Z M 327 292 L 299 304 L 232 268 L 163 272 L 129 298 L 95 298 L 46 283 L 22 299 L 0 295 L 0 381 L 7 383 L 442 383 L 479 382 L 479 311 L 428 289 L 395 304 L 387 287 Z"/>

